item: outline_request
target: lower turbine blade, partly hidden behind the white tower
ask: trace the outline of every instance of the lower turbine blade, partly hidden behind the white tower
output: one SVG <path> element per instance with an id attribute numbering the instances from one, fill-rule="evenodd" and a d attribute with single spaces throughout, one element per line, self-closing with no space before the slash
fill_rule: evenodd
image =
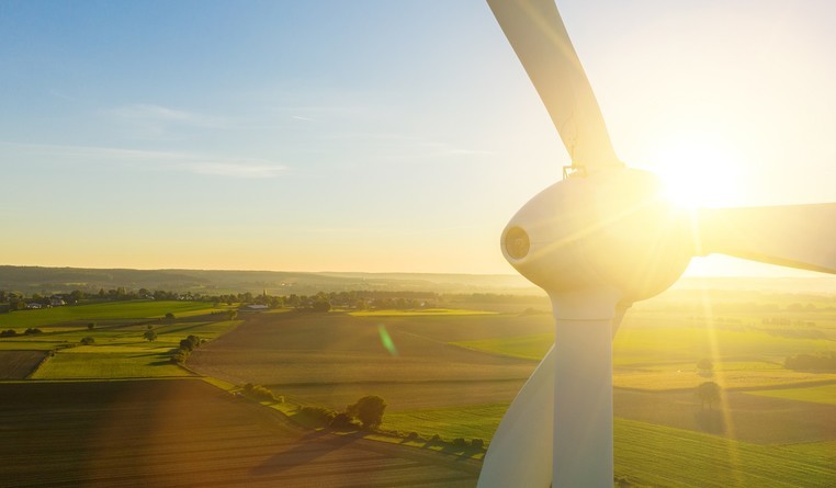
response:
<path id="1" fill-rule="evenodd" d="M 490 441 L 478 488 L 552 484 L 554 347 L 540 362 Z"/>

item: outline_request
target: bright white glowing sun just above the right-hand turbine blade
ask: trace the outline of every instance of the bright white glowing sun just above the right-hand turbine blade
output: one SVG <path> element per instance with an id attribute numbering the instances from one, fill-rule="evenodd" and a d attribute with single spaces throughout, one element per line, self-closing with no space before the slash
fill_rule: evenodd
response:
<path id="1" fill-rule="evenodd" d="M 688 208 L 733 205 L 739 197 L 735 151 L 705 137 L 677 137 L 654 154 L 667 197 Z"/>

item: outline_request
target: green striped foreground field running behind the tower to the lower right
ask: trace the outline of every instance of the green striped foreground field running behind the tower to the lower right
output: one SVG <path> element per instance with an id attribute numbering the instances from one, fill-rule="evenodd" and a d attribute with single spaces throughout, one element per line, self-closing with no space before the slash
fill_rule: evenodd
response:
<path id="1" fill-rule="evenodd" d="M 425 438 L 488 438 L 507 405 L 394 412 L 386 425 Z M 834 443 L 776 447 L 626 419 L 615 419 L 615 476 L 635 486 L 798 487 L 832 486 Z"/>

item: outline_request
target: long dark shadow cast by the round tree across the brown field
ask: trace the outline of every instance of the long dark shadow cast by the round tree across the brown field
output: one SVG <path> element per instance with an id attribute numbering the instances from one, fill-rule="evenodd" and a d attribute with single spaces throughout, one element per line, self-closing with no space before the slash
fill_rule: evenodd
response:
<path id="1" fill-rule="evenodd" d="M 259 466 L 250 469 L 250 474 L 255 476 L 273 475 L 296 466 L 307 465 L 362 438 L 363 434 L 361 433 L 331 435 L 325 431 L 310 432 L 300 438 L 289 449 L 272 455 Z"/>

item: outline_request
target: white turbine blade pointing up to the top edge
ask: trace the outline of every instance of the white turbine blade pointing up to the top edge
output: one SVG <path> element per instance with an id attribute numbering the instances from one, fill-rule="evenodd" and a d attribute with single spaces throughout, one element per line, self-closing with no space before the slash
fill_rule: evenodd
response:
<path id="1" fill-rule="evenodd" d="M 572 163 L 623 167 L 553 0 L 487 0 L 545 104 Z"/>

